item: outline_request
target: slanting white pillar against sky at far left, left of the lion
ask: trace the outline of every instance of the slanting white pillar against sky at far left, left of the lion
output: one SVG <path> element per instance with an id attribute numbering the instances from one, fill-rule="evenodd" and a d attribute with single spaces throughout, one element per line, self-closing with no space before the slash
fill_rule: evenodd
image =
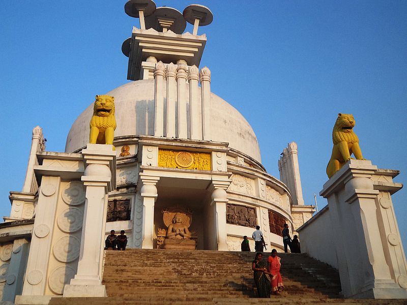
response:
<path id="1" fill-rule="evenodd" d="M 34 175 L 34 166 L 37 165 L 37 153 L 40 150 L 44 150 L 44 136 L 42 134 L 42 128 L 36 126 L 33 129 L 33 137 L 31 141 L 30 157 L 28 157 L 28 166 L 25 173 L 24 186 L 22 191 L 24 193 L 37 192 L 38 186 Z"/>

